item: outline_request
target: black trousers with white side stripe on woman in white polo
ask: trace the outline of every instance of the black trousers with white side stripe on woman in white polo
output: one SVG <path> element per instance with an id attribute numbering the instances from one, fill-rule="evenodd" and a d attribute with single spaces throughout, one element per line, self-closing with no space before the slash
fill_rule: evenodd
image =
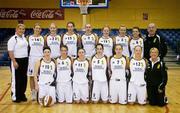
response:
<path id="1" fill-rule="evenodd" d="M 12 100 L 23 100 L 26 98 L 25 92 L 27 87 L 27 69 L 28 58 L 16 58 L 19 67 L 15 69 L 13 64 L 12 69 Z"/>

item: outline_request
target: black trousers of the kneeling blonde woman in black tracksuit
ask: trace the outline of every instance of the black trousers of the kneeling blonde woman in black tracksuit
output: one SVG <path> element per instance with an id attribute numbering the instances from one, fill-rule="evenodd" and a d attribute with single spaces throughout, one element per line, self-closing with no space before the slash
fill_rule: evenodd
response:
<path id="1" fill-rule="evenodd" d="M 165 89 L 162 93 L 158 92 L 158 86 L 147 85 L 147 94 L 150 105 L 164 106 L 165 103 Z"/>

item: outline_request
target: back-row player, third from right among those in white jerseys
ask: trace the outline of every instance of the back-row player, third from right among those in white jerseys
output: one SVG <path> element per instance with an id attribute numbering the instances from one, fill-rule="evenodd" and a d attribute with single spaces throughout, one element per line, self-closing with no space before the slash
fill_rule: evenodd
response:
<path id="1" fill-rule="evenodd" d="M 104 46 L 104 54 L 107 57 L 112 56 L 112 50 L 113 50 L 113 39 L 109 36 L 110 33 L 110 27 L 105 26 L 102 29 L 103 36 L 99 39 L 99 43 L 103 44 Z"/>

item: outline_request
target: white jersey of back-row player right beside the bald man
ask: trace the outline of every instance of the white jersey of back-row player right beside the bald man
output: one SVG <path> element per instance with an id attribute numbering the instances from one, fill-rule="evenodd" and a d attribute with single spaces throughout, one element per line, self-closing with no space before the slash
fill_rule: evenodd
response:
<path id="1" fill-rule="evenodd" d="M 144 52 L 144 42 L 142 38 L 139 39 L 131 39 L 130 41 L 130 49 L 131 49 L 131 57 L 134 55 L 134 48 L 135 46 L 141 46 L 142 47 L 142 57 L 143 57 L 143 52 Z"/>

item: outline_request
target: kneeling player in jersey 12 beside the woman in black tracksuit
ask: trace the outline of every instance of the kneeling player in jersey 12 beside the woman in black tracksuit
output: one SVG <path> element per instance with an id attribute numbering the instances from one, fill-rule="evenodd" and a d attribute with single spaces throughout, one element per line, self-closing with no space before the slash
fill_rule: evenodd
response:
<path id="1" fill-rule="evenodd" d="M 130 60 L 131 78 L 128 87 L 128 102 L 133 104 L 136 98 L 139 104 L 146 104 L 145 70 L 146 60 L 141 57 L 142 47 L 135 46 L 134 57 Z"/>

